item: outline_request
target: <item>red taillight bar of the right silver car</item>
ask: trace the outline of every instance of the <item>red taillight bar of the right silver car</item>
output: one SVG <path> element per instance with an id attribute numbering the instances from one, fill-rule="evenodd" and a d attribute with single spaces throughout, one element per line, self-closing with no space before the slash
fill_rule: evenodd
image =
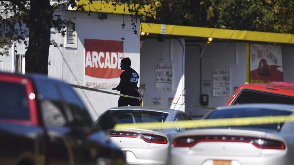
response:
<path id="1" fill-rule="evenodd" d="M 281 141 L 240 136 L 187 136 L 175 138 L 175 147 L 192 147 L 199 142 L 243 142 L 250 143 L 259 149 L 285 149 L 285 145 Z"/>

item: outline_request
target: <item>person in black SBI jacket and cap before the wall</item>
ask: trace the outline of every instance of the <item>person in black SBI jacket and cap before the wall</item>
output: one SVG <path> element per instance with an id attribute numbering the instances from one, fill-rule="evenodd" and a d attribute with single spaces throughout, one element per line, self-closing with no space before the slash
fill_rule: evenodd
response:
<path id="1" fill-rule="evenodd" d="M 123 69 L 123 73 L 120 74 L 120 82 L 119 85 L 114 88 L 121 94 L 129 95 L 129 96 L 135 96 L 139 97 L 138 93 L 138 80 L 139 75 L 138 73 L 132 69 L 131 66 L 131 60 L 130 58 L 126 57 L 121 60 L 120 68 Z M 130 97 L 119 97 L 119 103 L 118 106 L 140 106 L 139 99 L 130 98 Z"/>

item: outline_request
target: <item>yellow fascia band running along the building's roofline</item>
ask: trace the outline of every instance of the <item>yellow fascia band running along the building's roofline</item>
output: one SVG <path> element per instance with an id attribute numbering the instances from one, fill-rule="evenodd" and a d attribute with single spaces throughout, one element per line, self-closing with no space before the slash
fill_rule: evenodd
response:
<path id="1" fill-rule="evenodd" d="M 127 4 L 112 5 L 113 2 L 106 3 L 105 1 L 92 1 L 80 0 L 78 5 L 85 4 L 85 11 L 103 12 L 103 13 L 116 13 L 116 14 L 131 14 L 128 10 Z M 132 4 L 133 5 L 133 4 Z M 133 7 L 138 7 L 138 4 L 134 4 Z M 101 9 L 101 10 L 100 10 Z M 116 9 L 116 10 L 115 10 Z M 124 10 L 125 9 L 125 10 Z M 72 9 L 75 10 L 75 9 Z M 144 5 L 144 9 L 140 9 L 140 12 L 151 11 L 151 5 Z M 154 11 L 152 11 L 154 12 Z M 153 13 L 156 14 L 155 12 Z M 149 32 L 154 34 L 160 34 L 160 24 L 147 24 L 142 23 L 143 32 Z M 178 25 L 166 25 L 166 35 L 180 35 L 180 36 L 192 36 L 192 37 L 209 37 L 213 31 L 213 28 L 201 28 L 191 26 L 178 26 Z M 215 29 L 212 37 L 218 39 L 229 39 L 234 30 L 228 29 Z M 294 44 L 293 34 L 284 33 L 269 33 L 258 31 L 244 31 L 236 30 L 231 39 L 245 40 L 245 41 L 259 41 L 259 42 L 274 42 L 274 43 L 289 43 Z"/>

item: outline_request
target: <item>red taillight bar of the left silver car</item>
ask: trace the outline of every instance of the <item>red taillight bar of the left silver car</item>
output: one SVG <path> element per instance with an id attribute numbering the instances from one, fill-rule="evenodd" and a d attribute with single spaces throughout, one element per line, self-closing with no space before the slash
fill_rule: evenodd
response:
<path id="1" fill-rule="evenodd" d="M 153 134 L 140 134 L 136 132 L 121 132 L 121 131 L 109 131 L 110 137 L 127 137 L 127 138 L 140 138 L 147 143 L 161 143 L 166 144 L 168 143 L 168 140 L 159 135 L 153 135 Z"/>

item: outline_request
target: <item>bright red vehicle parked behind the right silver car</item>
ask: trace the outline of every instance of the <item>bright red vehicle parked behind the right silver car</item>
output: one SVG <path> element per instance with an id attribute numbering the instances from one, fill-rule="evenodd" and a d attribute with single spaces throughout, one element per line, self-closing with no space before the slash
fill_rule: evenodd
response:
<path id="1" fill-rule="evenodd" d="M 245 103 L 280 103 L 294 105 L 294 82 L 244 84 L 229 99 L 228 105 Z"/>

